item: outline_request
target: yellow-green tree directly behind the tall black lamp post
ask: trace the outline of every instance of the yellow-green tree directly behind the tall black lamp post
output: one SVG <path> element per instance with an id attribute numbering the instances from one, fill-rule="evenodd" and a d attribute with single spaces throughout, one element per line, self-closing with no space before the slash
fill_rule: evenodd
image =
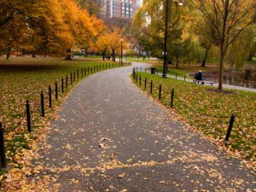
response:
<path id="1" fill-rule="evenodd" d="M 181 56 L 179 51 L 183 47 L 183 15 L 184 9 L 179 7 L 178 1 L 170 1 L 167 22 L 168 60 Z M 162 58 L 165 42 L 166 1 L 143 1 L 133 20 L 134 30 L 140 46 L 152 55 Z"/>

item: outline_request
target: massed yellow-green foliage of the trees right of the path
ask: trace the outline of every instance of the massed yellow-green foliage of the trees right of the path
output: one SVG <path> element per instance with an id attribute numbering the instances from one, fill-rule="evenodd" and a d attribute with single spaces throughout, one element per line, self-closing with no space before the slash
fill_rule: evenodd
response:
<path id="1" fill-rule="evenodd" d="M 256 2 L 253 0 L 148 0 L 133 20 L 138 42 L 144 50 L 161 58 L 164 48 L 165 11 L 168 9 L 168 60 L 201 61 L 206 66 L 212 46 L 219 50 L 219 86 L 222 89 L 224 62 L 241 66 L 255 53 Z M 242 49 L 242 51 L 241 51 Z M 176 59 L 177 60 L 177 59 Z"/>

